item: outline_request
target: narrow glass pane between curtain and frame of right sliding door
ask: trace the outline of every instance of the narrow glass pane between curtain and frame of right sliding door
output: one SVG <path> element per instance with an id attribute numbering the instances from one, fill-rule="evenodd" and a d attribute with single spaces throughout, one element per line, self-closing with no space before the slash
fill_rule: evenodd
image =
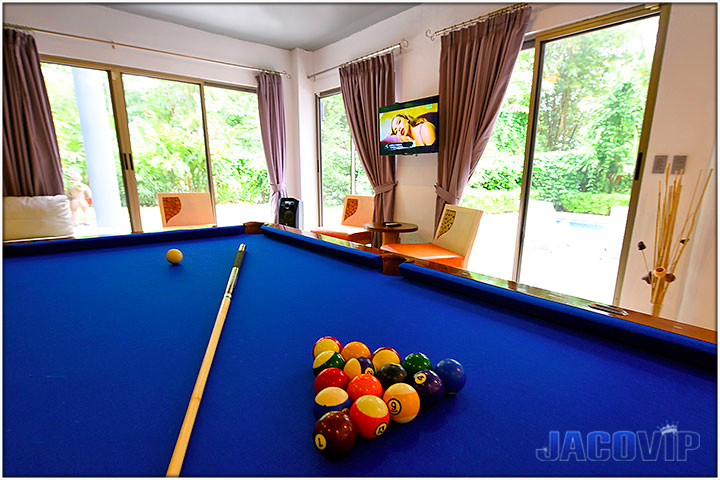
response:
<path id="1" fill-rule="evenodd" d="M 522 50 L 492 137 L 460 205 L 483 211 L 468 270 L 512 279 L 535 49 Z"/>

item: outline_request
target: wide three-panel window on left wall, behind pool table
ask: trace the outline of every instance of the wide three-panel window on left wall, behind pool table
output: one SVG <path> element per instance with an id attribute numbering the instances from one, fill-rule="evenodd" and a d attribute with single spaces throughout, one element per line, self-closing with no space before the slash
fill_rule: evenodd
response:
<path id="1" fill-rule="evenodd" d="M 76 236 L 161 230 L 163 192 L 211 192 L 218 225 L 271 219 L 257 94 L 41 65 Z"/>

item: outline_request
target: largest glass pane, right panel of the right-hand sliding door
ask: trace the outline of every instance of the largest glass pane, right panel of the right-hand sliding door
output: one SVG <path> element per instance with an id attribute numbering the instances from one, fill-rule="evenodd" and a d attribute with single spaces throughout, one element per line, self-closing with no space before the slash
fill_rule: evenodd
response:
<path id="1" fill-rule="evenodd" d="M 521 283 L 612 302 L 657 28 L 545 46 Z"/>

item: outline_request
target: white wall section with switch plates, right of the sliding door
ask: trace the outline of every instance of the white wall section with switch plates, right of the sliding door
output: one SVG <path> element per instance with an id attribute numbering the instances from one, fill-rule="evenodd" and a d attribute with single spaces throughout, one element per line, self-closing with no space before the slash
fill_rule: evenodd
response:
<path id="1" fill-rule="evenodd" d="M 634 246 L 654 243 L 658 181 L 652 173 L 655 155 L 687 155 L 679 216 L 684 220 L 700 170 L 717 168 L 717 31 L 715 4 L 673 4 L 655 105 L 648 159 L 645 163 L 633 248 L 627 263 L 620 304 L 649 311 L 650 286 L 641 280 L 645 265 Z M 661 315 L 705 328 L 716 328 L 717 176 L 713 175 L 698 214 L 696 233 L 681 257 L 677 280 L 668 288 Z M 682 226 L 678 221 L 676 228 Z M 650 257 L 652 254 L 650 254 Z M 648 258 L 648 261 L 651 261 Z"/>

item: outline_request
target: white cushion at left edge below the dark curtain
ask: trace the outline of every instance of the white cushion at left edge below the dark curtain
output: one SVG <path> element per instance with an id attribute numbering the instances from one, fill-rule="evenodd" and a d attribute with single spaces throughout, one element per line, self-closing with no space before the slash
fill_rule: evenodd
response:
<path id="1" fill-rule="evenodd" d="M 72 235 L 67 196 L 3 197 L 3 240 Z"/>

